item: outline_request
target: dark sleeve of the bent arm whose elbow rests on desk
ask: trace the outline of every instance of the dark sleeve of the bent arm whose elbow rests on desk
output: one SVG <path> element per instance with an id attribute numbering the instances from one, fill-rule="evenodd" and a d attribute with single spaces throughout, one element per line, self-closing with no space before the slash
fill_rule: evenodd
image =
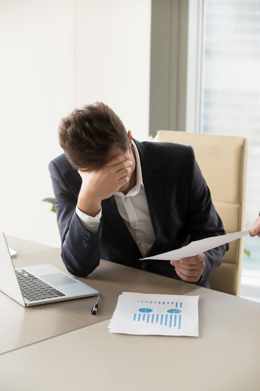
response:
<path id="1" fill-rule="evenodd" d="M 53 161 L 49 163 L 49 171 L 62 241 L 62 260 L 69 273 L 85 277 L 99 265 L 102 220 L 97 233 L 91 233 L 84 228 L 75 212 L 77 198 L 67 187 Z"/>

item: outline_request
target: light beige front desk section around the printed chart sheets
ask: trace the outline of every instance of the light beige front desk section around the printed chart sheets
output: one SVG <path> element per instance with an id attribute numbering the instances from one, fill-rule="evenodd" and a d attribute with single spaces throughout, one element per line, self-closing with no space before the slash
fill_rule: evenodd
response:
<path id="1" fill-rule="evenodd" d="M 110 334 L 101 321 L 2 354 L 1 389 L 259 391 L 260 304 L 197 294 L 198 338 Z"/>

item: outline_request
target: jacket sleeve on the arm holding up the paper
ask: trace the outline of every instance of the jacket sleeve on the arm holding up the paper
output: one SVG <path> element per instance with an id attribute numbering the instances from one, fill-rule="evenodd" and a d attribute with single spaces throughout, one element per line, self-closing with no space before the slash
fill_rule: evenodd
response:
<path id="1" fill-rule="evenodd" d="M 192 147 L 190 149 L 190 179 L 187 197 L 188 230 L 191 235 L 190 242 L 210 236 L 225 235 L 223 223 L 214 208 L 209 188 L 202 176 Z M 209 274 L 221 265 L 222 257 L 228 250 L 229 244 L 205 251 L 205 264 L 203 274 L 197 283 L 202 282 Z"/>

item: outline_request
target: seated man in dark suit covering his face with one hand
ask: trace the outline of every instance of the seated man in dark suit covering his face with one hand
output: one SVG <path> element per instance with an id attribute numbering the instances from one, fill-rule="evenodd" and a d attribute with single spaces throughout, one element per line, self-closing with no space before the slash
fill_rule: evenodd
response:
<path id="1" fill-rule="evenodd" d="M 84 277 L 99 259 L 210 287 L 228 244 L 180 261 L 146 260 L 225 230 L 193 149 L 133 140 L 101 102 L 59 127 L 65 154 L 49 164 L 62 259 Z"/>

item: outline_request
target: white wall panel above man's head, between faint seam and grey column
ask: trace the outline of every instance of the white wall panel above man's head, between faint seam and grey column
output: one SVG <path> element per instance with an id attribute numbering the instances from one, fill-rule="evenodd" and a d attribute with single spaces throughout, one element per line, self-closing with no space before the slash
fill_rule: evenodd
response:
<path id="1" fill-rule="evenodd" d="M 149 128 L 150 0 L 76 1 L 75 104 L 101 100 L 143 141 Z"/>

